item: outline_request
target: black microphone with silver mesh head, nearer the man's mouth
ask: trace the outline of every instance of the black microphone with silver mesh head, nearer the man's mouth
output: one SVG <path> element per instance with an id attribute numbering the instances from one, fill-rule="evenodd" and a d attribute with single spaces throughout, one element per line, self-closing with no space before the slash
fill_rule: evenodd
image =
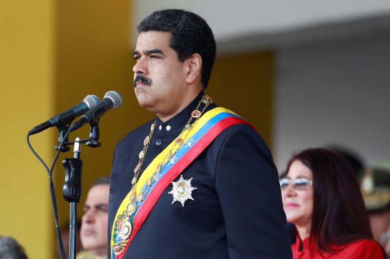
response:
<path id="1" fill-rule="evenodd" d="M 106 92 L 103 100 L 101 100 L 98 105 L 81 116 L 78 121 L 73 123 L 73 125 L 69 127 L 69 131 L 72 132 L 77 130 L 89 121 L 98 121 L 106 111 L 110 109 L 117 109 L 120 107 L 120 104 L 122 104 L 122 97 L 117 91 Z"/>

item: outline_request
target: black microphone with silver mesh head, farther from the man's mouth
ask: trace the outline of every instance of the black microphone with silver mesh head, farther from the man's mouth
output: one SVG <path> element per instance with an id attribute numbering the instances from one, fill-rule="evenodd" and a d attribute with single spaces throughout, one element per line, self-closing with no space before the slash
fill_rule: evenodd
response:
<path id="1" fill-rule="evenodd" d="M 76 104 L 72 108 L 32 128 L 28 132 L 28 135 L 37 134 L 45 129 L 51 128 L 64 122 L 69 123 L 73 121 L 76 117 L 80 116 L 81 114 L 84 114 L 91 108 L 95 107 L 98 103 L 100 103 L 100 99 L 98 96 L 93 94 L 87 95 L 81 103 Z"/>

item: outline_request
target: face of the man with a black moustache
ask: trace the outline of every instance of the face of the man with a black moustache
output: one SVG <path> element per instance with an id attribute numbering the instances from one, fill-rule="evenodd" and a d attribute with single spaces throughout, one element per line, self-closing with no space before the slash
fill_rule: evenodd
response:
<path id="1" fill-rule="evenodd" d="M 186 82 L 189 59 L 180 62 L 169 47 L 171 34 L 142 32 L 137 39 L 133 67 L 134 87 L 139 105 L 160 119 L 179 112 L 188 96 Z M 191 100 L 192 101 L 192 100 Z"/>

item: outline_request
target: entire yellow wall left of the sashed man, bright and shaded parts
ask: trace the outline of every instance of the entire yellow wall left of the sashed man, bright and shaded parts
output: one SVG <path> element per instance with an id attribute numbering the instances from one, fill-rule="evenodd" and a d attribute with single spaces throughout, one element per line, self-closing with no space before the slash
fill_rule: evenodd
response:
<path id="1" fill-rule="evenodd" d="M 100 121 L 102 146 L 82 146 L 82 204 L 94 179 L 110 173 L 115 144 L 128 131 L 154 116 L 138 107 L 132 86 L 129 43 L 130 0 L 0 1 L 0 235 L 15 237 L 30 258 L 52 259 L 55 224 L 43 166 L 26 144 L 35 125 L 81 102 L 87 94 L 103 98 L 109 90 L 122 94 L 123 104 Z M 70 135 L 88 137 L 88 125 Z M 58 132 L 48 129 L 30 137 L 33 148 L 50 167 Z M 59 222 L 69 219 L 62 198 L 61 154 L 54 172 Z M 129 183 L 130 184 L 130 183 Z"/>

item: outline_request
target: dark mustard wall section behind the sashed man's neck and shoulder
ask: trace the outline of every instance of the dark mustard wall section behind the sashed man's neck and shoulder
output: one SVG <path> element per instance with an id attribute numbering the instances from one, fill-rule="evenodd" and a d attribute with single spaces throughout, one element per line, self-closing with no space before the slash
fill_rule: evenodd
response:
<path id="1" fill-rule="evenodd" d="M 217 56 L 206 94 L 251 122 L 272 143 L 272 51 Z"/>

